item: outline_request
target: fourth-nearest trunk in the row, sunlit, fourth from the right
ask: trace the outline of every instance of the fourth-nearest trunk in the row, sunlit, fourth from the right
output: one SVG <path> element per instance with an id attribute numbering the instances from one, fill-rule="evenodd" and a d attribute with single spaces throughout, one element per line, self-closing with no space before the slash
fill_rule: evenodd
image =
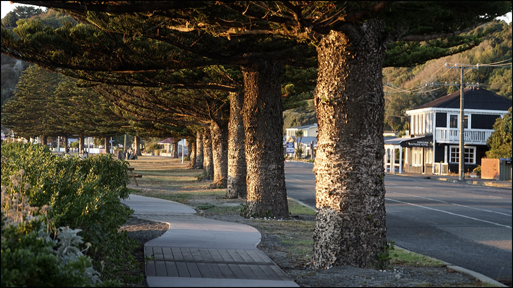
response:
<path id="1" fill-rule="evenodd" d="M 226 121 L 210 122 L 210 139 L 214 166 L 212 186 L 226 188 L 228 179 L 228 124 Z"/>

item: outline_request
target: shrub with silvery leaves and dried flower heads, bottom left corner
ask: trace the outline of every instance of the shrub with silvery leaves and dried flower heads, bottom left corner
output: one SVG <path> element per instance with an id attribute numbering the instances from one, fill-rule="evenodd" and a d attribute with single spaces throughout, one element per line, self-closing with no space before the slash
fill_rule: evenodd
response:
<path id="1" fill-rule="evenodd" d="M 48 234 L 48 208 L 32 208 L 15 188 L 23 182 L 13 177 L 2 187 L 2 286 L 92 286 L 101 284 L 91 259 L 79 248 L 80 230 L 60 229 Z"/>

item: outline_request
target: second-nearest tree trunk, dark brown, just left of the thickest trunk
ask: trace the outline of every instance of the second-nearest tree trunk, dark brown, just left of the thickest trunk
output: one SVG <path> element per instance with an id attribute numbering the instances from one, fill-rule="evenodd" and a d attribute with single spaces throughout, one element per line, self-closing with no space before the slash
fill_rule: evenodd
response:
<path id="1" fill-rule="evenodd" d="M 244 66 L 245 216 L 288 217 L 283 157 L 282 67 L 277 62 Z"/>

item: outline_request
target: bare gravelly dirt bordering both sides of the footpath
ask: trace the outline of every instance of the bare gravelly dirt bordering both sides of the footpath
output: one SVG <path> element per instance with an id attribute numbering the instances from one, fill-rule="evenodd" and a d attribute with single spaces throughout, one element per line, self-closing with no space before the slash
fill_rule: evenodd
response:
<path id="1" fill-rule="evenodd" d="M 209 200 L 209 203 L 213 204 L 214 202 L 215 199 Z M 205 217 L 244 223 L 258 229 L 262 234 L 262 241 L 258 248 L 264 251 L 302 287 L 480 286 L 477 279 L 447 267 L 426 268 L 394 265 L 393 268 L 382 271 L 359 269 L 350 266 L 336 266 L 328 270 L 314 271 L 309 268 L 307 260 L 295 255 L 292 251 L 292 245 L 283 240 L 287 237 L 298 237 L 296 234 L 298 231 L 293 231 L 293 227 L 298 227 L 298 225 L 287 224 L 287 221 L 311 221 L 313 216 L 299 216 L 296 219 L 287 221 L 266 221 L 262 219 L 245 219 L 233 213 L 221 215 L 209 214 L 204 211 L 199 211 L 199 213 Z M 278 227 L 281 229 L 279 237 L 276 230 L 273 229 L 276 228 L 273 225 L 282 225 Z M 144 252 L 142 246 L 146 241 L 158 237 L 167 231 L 168 225 L 131 217 L 122 229 L 127 230 L 130 237 L 140 241 L 142 244 L 141 248 L 135 251 L 134 255 L 142 264 L 141 267 L 144 273 Z M 299 233 L 304 232 L 299 231 Z M 146 281 L 132 283 L 127 286 L 146 286 Z"/>

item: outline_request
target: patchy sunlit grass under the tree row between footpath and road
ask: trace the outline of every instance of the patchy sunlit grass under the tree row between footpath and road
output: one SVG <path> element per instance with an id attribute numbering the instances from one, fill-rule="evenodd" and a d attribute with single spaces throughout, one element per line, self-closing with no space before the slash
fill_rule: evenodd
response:
<path id="1" fill-rule="evenodd" d="M 205 216 L 240 215 L 241 204 L 244 204 L 243 199 L 225 199 L 226 189 L 210 189 L 211 181 L 198 180 L 198 176 L 203 171 L 189 169 L 188 164 L 181 163 L 181 159 L 165 157 L 151 157 L 148 159 L 146 156 L 129 162 L 130 166 L 135 168 L 135 174 L 144 175 L 137 179 L 140 187 L 132 189 L 131 193 L 133 194 L 187 204 Z M 289 212 L 293 216 L 315 215 L 314 209 L 292 199 L 288 199 L 288 205 Z M 304 219 L 313 218 L 304 217 Z M 310 260 L 315 221 L 251 219 L 250 222 L 263 235 L 279 237 L 280 241 L 287 247 L 287 253 L 298 260 L 298 263 L 305 263 Z M 389 257 L 392 266 L 444 266 L 441 261 L 400 248 L 391 250 Z"/>

